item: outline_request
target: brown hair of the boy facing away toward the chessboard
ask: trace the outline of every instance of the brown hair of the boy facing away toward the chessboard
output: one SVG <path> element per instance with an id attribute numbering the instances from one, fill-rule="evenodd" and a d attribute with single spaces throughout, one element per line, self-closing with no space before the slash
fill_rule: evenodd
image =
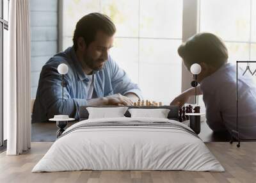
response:
<path id="1" fill-rule="evenodd" d="M 191 36 L 178 49 L 179 56 L 188 63 L 207 63 L 213 67 L 221 67 L 228 59 L 228 50 L 221 38 L 212 33 L 198 33 Z"/>

